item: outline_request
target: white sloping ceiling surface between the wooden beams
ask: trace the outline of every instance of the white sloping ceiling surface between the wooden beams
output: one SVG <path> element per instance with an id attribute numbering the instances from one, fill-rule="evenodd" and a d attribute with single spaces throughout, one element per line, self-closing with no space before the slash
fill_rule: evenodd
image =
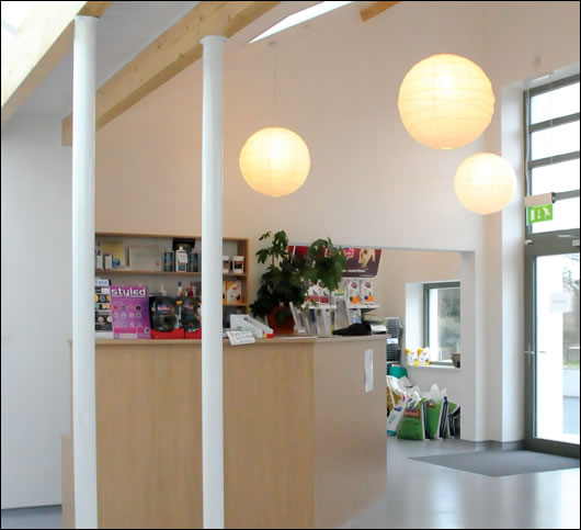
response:
<path id="1" fill-rule="evenodd" d="M 151 41 L 172 26 L 198 2 L 113 2 L 96 30 L 96 87 L 133 59 Z M 315 1 L 281 2 L 259 20 L 231 37 L 226 53 L 240 48 L 253 37 Z M 367 3 L 367 2 L 364 2 Z M 72 52 L 26 99 L 15 116 L 49 115 L 64 119 L 72 109 Z"/>

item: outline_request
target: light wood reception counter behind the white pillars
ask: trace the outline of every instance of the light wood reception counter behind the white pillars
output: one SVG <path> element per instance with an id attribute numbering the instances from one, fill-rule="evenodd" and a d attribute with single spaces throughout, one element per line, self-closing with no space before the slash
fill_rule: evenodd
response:
<path id="1" fill-rule="evenodd" d="M 96 341 L 100 528 L 202 527 L 201 353 Z M 226 527 L 335 528 L 383 496 L 385 382 L 385 336 L 225 341 Z"/>

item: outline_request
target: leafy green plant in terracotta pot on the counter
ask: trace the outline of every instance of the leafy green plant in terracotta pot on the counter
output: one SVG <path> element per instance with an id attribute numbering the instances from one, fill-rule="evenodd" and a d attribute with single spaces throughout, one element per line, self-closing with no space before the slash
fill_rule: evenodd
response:
<path id="1" fill-rule="evenodd" d="M 266 318 L 275 334 L 289 335 L 294 328 L 289 304 L 300 307 L 305 303 L 309 281 L 320 280 L 328 289 L 337 289 L 346 258 L 331 239 L 317 239 L 304 257 L 288 255 L 288 237 L 284 230 L 274 235 L 267 232 L 260 237 L 261 241 L 265 239 L 271 239 L 270 245 L 260 249 L 257 257 L 259 263 L 264 264 L 269 259 L 271 262 L 260 278 L 250 309 L 254 316 Z"/>

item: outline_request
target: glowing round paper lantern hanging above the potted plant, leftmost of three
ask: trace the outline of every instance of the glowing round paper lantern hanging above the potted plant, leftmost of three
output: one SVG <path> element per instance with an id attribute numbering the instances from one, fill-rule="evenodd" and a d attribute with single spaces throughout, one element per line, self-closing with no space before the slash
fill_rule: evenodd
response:
<path id="1" fill-rule="evenodd" d="M 298 134 L 288 128 L 266 127 L 247 139 L 239 163 L 250 188 L 265 195 L 282 196 L 305 183 L 310 156 Z"/>

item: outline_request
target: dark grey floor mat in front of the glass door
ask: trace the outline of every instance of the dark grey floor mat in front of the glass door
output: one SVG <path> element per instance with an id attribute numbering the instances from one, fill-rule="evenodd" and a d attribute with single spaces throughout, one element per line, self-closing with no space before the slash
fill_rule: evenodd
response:
<path id="1" fill-rule="evenodd" d="M 578 459 L 535 451 L 474 451 L 410 460 L 488 476 L 521 475 L 579 467 Z"/>

